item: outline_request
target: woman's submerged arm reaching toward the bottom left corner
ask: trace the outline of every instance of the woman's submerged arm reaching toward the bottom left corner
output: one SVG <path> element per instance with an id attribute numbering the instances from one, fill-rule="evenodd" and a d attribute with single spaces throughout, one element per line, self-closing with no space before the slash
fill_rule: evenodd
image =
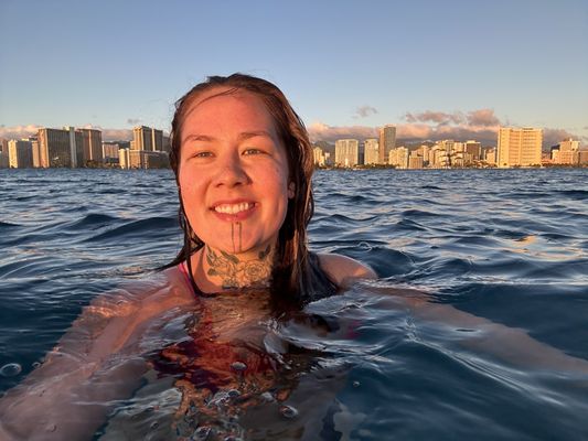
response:
<path id="1" fill-rule="evenodd" d="M 147 369 L 139 336 L 150 319 L 188 302 L 173 289 L 136 290 L 93 301 L 45 363 L 0 400 L 0 439 L 90 439 L 116 400 L 132 395 Z"/>

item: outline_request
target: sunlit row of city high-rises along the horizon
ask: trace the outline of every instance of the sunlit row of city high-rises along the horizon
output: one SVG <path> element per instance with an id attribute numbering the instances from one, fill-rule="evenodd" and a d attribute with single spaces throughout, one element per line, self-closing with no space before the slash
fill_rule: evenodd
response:
<path id="1" fill-rule="evenodd" d="M 168 168 L 171 139 L 162 130 L 137 126 L 130 141 L 103 141 L 101 131 L 42 128 L 22 140 L 0 139 L 0 169 L 6 168 Z M 379 129 L 379 139 L 339 139 L 334 151 L 324 142 L 313 146 L 318 166 L 394 166 L 398 169 L 586 166 L 588 149 L 571 138 L 548 152 L 542 149 L 543 129 L 501 127 L 496 147 L 478 140 L 425 141 L 420 146 L 396 146 L 396 127 Z M 323 148 L 325 150 L 323 150 Z M 547 153 L 547 154 L 546 154 Z"/>

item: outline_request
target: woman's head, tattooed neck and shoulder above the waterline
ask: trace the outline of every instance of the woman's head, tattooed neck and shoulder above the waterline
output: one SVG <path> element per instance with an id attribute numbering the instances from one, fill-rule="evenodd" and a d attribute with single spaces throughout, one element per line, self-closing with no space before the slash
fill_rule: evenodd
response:
<path id="1" fill-rule="evenodd" d="M 196 292 L 271 287 L 308 301 L 367 267 L 307 248 L 312 149 L 284 94 L 242 74 L 210 77 L 177 104 L 171 165 L 186 263 Z M 197 282 L 196 282 L 197 280 Z"/>

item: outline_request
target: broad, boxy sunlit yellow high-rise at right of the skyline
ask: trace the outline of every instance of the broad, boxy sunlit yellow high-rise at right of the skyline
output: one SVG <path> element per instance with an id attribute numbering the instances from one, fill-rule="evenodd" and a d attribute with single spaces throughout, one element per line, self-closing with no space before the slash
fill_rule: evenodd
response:
<path id="1" fill-rule="evenodd" d="M 541 165 L 543 130 L 531 127 L 501 127 L 499 130 L 498 166 Z"/>

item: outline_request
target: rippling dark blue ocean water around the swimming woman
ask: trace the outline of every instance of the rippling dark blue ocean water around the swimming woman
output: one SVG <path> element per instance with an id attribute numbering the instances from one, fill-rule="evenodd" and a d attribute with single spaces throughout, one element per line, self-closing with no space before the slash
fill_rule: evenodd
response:
<path id="1" fill-rule="evenodd" d="M 178 373 L 148 373 L 95 439 L 588 439 L 588 170 L 319 171 L 313 185 L 311 248 L 379 280 L 261 321 L 289 348 L 275 355 L 288 392 L 245 407 L 220 390 L 205 426 L 178 418 Z M 182 238 L 171 171 L 0 170 L 0 189 L 3 394 Z"/>

